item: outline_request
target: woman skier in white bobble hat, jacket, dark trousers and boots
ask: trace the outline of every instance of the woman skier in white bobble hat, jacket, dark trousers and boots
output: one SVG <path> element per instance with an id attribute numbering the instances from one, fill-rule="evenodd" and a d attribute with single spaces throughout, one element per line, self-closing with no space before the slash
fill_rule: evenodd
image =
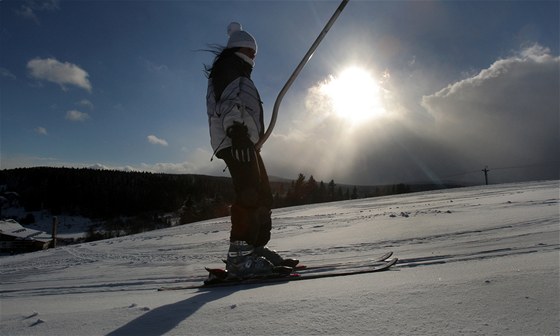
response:
<path id="1" fill-rule="evenodd" d="M 225 161 L 233 182 L 230 246 L 226 270 L 231 278 L 251 278 L 294 267 L 266 244 L 272 229 L 272 192 L 255 144 L 264 134 L 262 102 L 251 80 L 257 54 L 255 38 L 237 22 L 229 24 L 226 47 L 215 47 L 208 77 L 206 106 L 216 157 Z"/>

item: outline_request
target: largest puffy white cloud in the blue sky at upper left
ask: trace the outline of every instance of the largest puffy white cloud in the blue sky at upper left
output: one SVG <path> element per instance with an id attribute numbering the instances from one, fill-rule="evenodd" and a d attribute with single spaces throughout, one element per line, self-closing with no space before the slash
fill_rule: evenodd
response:
<path id="1" fill-rule="evenodd" d="M 89 74 L 75 64 L 54 58 L 35 58 L 27 63 L 27 69 L 32 77 L 59 84 L 63 90 L 66 90 L 65 85 L 74 85 L 91 92 Z"/>

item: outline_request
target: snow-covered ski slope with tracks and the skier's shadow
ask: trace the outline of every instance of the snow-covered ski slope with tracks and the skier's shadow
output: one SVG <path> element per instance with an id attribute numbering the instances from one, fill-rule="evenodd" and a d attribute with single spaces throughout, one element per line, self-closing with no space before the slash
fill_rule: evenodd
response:
<path id="1" fill-rule="evenodd" d="M 558 335 L 559 181 L 278 209 L 272 248 L 374 274 L 157 292 L 221 266 L 227 218 L 0 258 L 1 335 Z"/>

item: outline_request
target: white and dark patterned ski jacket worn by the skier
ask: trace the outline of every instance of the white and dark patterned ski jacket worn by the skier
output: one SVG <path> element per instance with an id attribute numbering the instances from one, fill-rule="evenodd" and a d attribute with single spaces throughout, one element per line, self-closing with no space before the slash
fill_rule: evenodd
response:
<path id="1" fill-rule="evenodd" d="M 214 153 L 231 147 L 226 131 L 234 122 L 247 126 L 253 143 L 264 134 L 262 101 L 250 78 L 251 60 L 243 56 L 235 53 L 219 64 L 216 62 L 208 78 L 206 109 Z M 217 92 L 221 87 L 223 91 Z"/>

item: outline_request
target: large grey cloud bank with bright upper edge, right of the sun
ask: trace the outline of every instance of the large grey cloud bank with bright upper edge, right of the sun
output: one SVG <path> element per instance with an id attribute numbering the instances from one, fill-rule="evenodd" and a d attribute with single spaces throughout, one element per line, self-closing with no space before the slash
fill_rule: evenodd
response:
<path id="1" fill-rule="evenodd" d="M 424 97 L 435 139 L 473 163 L 542 166 L 535 168 L 541 178 L 558 178 L 559 66 L 559 57 L 536 45 Z"/>

